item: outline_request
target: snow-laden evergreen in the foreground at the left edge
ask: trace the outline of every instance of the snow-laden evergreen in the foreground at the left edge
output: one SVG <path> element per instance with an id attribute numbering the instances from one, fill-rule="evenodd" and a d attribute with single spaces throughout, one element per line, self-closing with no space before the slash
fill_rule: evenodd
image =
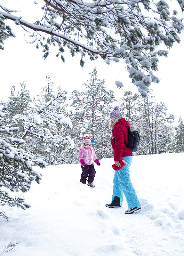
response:
<path id="1" fill-rule="evenodd" d="M 33 165 L 44 168 L 43 160 L 34 160 L 34 156 L 26 153 L 21 146 L 25 140 L 11 137 L 19 127 L 9 127 L 9 120 L 4 111 L 13 104 L 9 101 L 0 109 L 0 215 L 8 218 L 1 206 L 17 206 L 22 209 L 30 207 L 24 202 L 22 193 L 27 192 L 33 180 L 40 183 L 41 174 L 33 169 Z M 16 196 L 12 192 L 17 192 Z"/>

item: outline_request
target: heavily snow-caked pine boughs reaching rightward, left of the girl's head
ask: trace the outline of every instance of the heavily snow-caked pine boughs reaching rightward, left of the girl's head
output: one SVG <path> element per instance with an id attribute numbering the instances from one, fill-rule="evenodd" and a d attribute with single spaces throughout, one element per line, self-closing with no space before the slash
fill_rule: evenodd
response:
<path id="1" fill-rule="evenodd" d="M 30 109 L 25 109 L 24 115 L 15 115 L 13 117 L 16 123 L 19 119 L 23 120 L 24 132 L 21 137 L 25 140 L 28 135 L 42 138 L 44 141 L 52 141 L 53 143 L 63 142 L 70 148 L 74 148 L 74 142 L 69 136 L 58 134 L 56 124 L 65 124 L 72 128 L 72 123 L 69 117 L 62 114 L 57 114 L 56 109 L 60 106 L 60 100 L 66 98 L 67 91 L 58 91 L 53 95 L 52 100 L 44 102 L 44 100 L 34 98 L 34 106 Z M 20 147 L 18 144 L 17 148 Z"/>

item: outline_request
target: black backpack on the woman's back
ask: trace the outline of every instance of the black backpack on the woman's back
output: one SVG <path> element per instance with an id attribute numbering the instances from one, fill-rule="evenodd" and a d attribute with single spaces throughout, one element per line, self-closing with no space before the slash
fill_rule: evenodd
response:
<path id="1" fill-rule="evenodd" d="M 124 142 L 124 144 L 132 150 L 132 152 L 139 152 L 139 143 L 140 143 L 140 136 L 139 132 L 125 126 L 128 130 L 128 144 Z"/>

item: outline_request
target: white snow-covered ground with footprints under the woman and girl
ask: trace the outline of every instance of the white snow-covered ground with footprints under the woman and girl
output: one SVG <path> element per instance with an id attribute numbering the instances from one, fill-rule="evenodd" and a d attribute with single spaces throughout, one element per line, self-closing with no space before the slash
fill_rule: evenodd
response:
<path id="1" fill-rule="evenodd" d="M 79 182 L 80 164 L 48 166 L 41 184 L 25 194 L 31 208 L 1 207 L 0 255 L 17 242 L 11 256 L 183 256 L 184 153 L 134 156 L 131 180 L 142 209 L 126 215 L 109 209 L 114 164 L 103 159 L 95 188 Z M 36 167 L 36 170 L 38 168 Z"/>

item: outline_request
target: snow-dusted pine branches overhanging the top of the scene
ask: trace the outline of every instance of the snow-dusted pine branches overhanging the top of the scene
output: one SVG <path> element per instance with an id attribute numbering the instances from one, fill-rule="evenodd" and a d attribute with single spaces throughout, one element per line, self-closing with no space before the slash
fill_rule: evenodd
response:
<path id="1" fill-rule="evenodd" d="M 81 54 L 82 67 L 86 54 L 90 60 L 100 56 L 108 64 L 123 59 L 132 83 L 145 96 L 151 82 L 159 82 L 153 74 L 158 68 L 159 56 L 167 56 L 173 44 L 180 42 L 179 34 L 184 28 L 178 15 L 178 11 L 184 11 L 184 0 L 169 3 L 164 0 L 42 2 L 43 13 L 35 17 L 35 23 L 30 23 L 26 17 L 22 19 L 23 13 L 17 15 L 8 2 L 7 6 L 0 4 L 1 42 L 12 36 L 12 30 L 5 24 L 5 19 L 9 19 L 33 31 L 31 41 L 36 42 L 37 48 L 43 47 L 44 58 L 49 55 L 50 45 L 57 45 L 56 56 L 62 61 L 65 61 L 65 47 L 72 56 Z M 39 6 L 36 1 L 35 8 Z"/>

